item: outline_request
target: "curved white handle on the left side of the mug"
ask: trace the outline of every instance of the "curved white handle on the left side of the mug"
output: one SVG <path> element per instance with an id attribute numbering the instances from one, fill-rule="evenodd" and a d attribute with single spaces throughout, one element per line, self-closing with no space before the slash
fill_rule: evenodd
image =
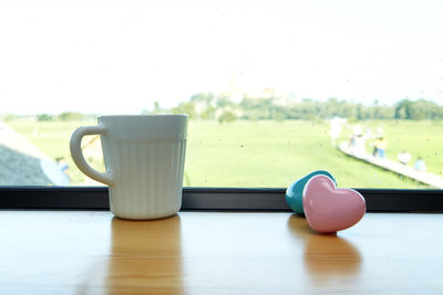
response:
<path id="1" fill-rule="evenodd" d="M 99 172 L 94 168 L 92 168 L 83 157 L 81 143 L 82 138 L 85 135 L 104 135 L 106 134 L 106 127 L 104 125 L 97 126 L 83 126 L 79 127 L 72 135 L 71 135 L 71 156 L 74 160 L 75 165 L 79 169 L 96 181 L 103 182 L 107 186 L 113 186 L 114 180 L 112 178 L 112 170 L 106 170 L 106 172 Z"/>

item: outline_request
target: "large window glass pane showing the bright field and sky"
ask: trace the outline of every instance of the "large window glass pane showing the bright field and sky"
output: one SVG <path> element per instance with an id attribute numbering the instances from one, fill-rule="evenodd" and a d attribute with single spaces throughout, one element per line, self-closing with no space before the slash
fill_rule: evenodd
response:
<path id="1" fill-rule="evenodd" d="M 189 115 L 184 186 L 443 188 L 441 1 L 1 1 L 0 186 L 93 186 L 71 133 Z M 85 158 L 103 170 L 97 136 Z"/>

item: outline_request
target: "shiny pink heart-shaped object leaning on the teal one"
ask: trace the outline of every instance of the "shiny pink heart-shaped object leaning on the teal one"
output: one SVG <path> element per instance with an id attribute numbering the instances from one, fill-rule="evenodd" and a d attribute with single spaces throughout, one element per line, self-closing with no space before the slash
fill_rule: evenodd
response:
<path id="1" fill-rule="evenodd" d="M 359 222 L 367 211 L 367 203 L 358 191 L 337 189 L 329 177 L 319 175 L 305 186 L 303 209 L 312 230 L 331 233 Z"/>

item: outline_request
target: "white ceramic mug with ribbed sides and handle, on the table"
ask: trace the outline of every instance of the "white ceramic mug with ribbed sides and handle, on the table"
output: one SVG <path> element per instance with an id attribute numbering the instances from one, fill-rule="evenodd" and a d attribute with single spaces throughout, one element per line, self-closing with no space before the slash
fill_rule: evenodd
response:
<path id="1" fill-rule="evenodd" d="M 110 208 L 119 218 L 158 219 L 182 207 L 187 115 L 102 116 L 71 136 L 79 169 L 110 187 Z M 84 159 L 81 140 L 100 135 L 105 172 Z"/>

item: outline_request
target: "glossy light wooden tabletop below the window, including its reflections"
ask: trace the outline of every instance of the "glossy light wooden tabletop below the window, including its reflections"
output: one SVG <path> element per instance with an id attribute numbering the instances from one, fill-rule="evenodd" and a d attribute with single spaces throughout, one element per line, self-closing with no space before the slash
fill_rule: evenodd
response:
<path id="1" fill-rule="evenodd" d="M 443 293 L 443 214 L 337 235 L 290 213 L 1 211 L 0 294 Z"/>

